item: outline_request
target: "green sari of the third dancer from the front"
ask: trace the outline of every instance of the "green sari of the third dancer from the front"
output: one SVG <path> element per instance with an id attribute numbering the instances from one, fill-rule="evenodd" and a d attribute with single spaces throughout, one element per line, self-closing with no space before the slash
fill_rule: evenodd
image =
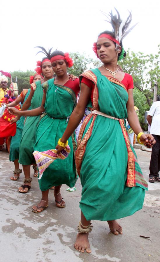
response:
<path id="1" fill-rule="evenodd" d="M 31 109 L 35 109 L 41 106 L 42 98 L 43 98 L 43 89 L 41 87 L 41 81 L 36 81 L 31 84 L 34 95 L 31 100 Z M 35 134 L 37 124 L 40 120 L 40 116 L 27 116 L 23 132 L 22 138 L 20 141 L 20 156 L 19 163 L 22 165 L 31 165 L 35 164 L 33 153 L 33 146 L 35 143 Z"/>

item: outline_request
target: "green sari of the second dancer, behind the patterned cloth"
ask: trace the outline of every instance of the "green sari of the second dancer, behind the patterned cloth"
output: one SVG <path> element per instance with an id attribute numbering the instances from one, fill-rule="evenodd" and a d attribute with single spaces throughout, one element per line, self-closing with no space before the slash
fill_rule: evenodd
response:
<path id="1" fill-rule="evenodd" d="M 67 83 L 66 83 L 67 84 Z M 68 86 L 54 84 L 54 79 L 50 79 L 42 88 L 46 93 L 45 112 L 46 115 L 41 119 L 36 131 L 36 143 L 34 150 L 46 151 L 57 146 L 58 139 L 62 137 L 75 104 L 76 96 Z M 75 132 L 69 137 L 68 144 L 71 148 L 69 156 L 61 161 L 56 159 L 44 171 L 39 182 L 42 191 L 48 190 L 52 186 L 66 184 L 69 187 L 75 185 L 77 174 L 75 168 Z"/>

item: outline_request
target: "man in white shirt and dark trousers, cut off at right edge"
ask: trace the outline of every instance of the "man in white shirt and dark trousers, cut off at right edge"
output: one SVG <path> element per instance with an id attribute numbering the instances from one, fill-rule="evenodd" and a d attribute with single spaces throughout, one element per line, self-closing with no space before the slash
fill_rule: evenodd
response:
<path id="1" fill-rule="evenodd" d="M 149 182 L 160 182 L 160 101 L 154 102 L 147 115 L 148 123 L 151 125 L 150 134 L 154 136 L 156 144 L 152 147 L 150 160 Z"/>

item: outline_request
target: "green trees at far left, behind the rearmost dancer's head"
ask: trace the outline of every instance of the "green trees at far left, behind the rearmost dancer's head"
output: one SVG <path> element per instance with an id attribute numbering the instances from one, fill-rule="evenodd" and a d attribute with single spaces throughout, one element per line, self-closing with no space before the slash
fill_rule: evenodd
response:
<path id="1" fill-rule="evenodd" d="M 25 89 L 29 89 L 31 87 L 30 83 L 29 83 L 29 77 L 31 75 L 34 75 L 35 72 L 34 71 L 29 71 L 27 70 L 26 72 L 23 71 L 14 71 L 14 72 L 10 72 L 11 76 L 12 76 L 12 81 L 15 82 L 15 79 L 17 77 L 17 85 L 18 85 L 18 93 L 20 94 L 22 92 L 22 90 Z M 10 85 L 10 81 L 8 82 L 8 86 Z"/>

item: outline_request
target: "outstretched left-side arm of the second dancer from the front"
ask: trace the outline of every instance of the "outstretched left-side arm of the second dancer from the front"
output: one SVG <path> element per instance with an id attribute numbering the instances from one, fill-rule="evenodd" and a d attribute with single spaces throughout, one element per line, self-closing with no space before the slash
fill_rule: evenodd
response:
<path id="1" fill-rule="evenodd" d="M 43 112 L 45 111 L 44 109 L 45 99 L 46 99 L 46 93 L 43 93 L 41 106 L 32 110 L 19 111 L 15 107 L 8 107 L 8 111 L 10 112 L 10 114 L 13 114 L 15 116 L 39 116 L 43 114 Z"/>

